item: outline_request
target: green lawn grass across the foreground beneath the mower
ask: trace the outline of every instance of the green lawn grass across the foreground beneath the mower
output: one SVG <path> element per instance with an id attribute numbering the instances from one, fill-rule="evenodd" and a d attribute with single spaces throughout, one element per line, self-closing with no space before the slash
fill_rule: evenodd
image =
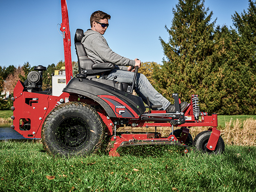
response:
<path id="1" fill-rule="evenodd" d="M 0 142 L 0 191 L 255 191 L 256 147 L 221 155 L 161 148 L 159 156 L 53 157 L 39 142 Z"/>

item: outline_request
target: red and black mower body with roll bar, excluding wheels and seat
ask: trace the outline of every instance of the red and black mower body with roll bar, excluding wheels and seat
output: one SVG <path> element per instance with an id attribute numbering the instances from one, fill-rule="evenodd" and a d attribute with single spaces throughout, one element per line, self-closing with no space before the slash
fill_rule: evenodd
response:
<path id="1" fill-rule="evenodd" d="M 63 33 L 66 83 L 68 84 L 74 78 L 72 73 L 71 41 L 66 0 L 61 0 L 61 13 L 62 23 L 60 29 Z M 81 81 L 87 80 L 81 79 Z M 79 90 L 72 90 L 72 86 L 68 85 L 64 88 L 64 92 L 60 96 L 52 96 L 41 92 L 29 92 L 27 86 L 22 81 L 18 81 L 14 89 L 14 96 L 12 97 L 14 106 L 12 107 L 13 125 L 11 128 L 15 129 L 15 131 L 25 138 L 41 138 L 41 129 L 50 111 L 58 105 L 67 102 L 81 102 L 93 106 L 106 125 L 105 131 L 111 137 L 111 142 L 113 143 L 109 152 L 111 156 L 119 156 L 116 151 L 117 148 L 125 147 L 125 145 L 173 145 L 174 143 L 176 145 L 186 145 L 188 138 L 191 137 L 189 128 L 194 126 L 206 126 L 212 131 L 207 138 L 206 148 L 209 151 L 214 151 L 216 145 L 218 145 L 220 131 L 217 130 L 217 114 L 209 116 L 207 113 L 200 112 L 197 95 L 192 95 L 191 101 L 184 111 L 180 111 L 180 99 L 178 99 L 177 93 L 174 93 L 173 97 L 175 99 L 175 107 L 178 109 L 177 112 L 170 114 L 163 110 L 151 110 L 149 107 L 148 112 L 140 113 L 130 102 L 127 102 L 128 100 L 124 100 L 112 94 L 112 92 L 109 94 L 108 92 L 101 92 L 92 96 L 89 91 L 86 92 L 83 90 L 83 92 L 79 92 Z M 144 108 L 144 105 L 141 108 Z M 122 125 L 146 128 L 172 127 L 172 134 L 168 137 L 161 137 L 161 134 L 157 132 L 123 133 L 117 135 L 117 129 Z M 181 128 L 179 129 L 179 137 L 175 134 L 175 128 L 178 127 Z M 196 140 L 197 142 L 199 142 L 198 138 Z"/>

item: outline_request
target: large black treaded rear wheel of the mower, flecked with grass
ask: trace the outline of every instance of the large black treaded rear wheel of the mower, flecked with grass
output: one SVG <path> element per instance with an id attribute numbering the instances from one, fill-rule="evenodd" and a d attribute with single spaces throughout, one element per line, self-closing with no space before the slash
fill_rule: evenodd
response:
<path id="1" fill-rule="evenodd" d="M 50 154 L 88 155 L 101 146 L 104 127 L 93 108 L 81 102 L 67 102 L 54 108 L 44 120 L 42 143 Z"/>

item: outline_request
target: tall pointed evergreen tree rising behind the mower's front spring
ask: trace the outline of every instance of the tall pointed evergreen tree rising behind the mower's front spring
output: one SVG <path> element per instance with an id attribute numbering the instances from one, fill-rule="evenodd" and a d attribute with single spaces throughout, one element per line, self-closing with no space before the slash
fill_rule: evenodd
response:
<path id="1" fill-rule="evenodd" d="M 206 101 L 213 87 L 205 77 L 218 72 L 218 65 L 209 62 L 215 21 L 210 23 L 212 12 L 207 15 L 208 11 L 204 0 L 179 0 L 173 9 L 172 27 L 166 27 L 169 42 L 160 38 L 167 60 L 155 67 L 153 74 L 156 89 L 170 101 L 172 93 L 179 93 L 180 99 L 187 102 L 192 94 L 198 94 L 201 111 L 213 111 L 214 106 Z"/>

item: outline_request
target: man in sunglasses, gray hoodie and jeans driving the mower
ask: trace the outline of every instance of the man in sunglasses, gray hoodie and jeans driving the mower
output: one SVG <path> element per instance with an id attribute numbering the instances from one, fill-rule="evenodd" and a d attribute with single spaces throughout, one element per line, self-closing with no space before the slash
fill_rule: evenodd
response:
<path id="1" fill-rule="evenodd" d="M 93 12 L 90 17 L 91 29 L 88 29 L 84 33 L 81 42 L 84 45 L 88 58 L 92 59 L 95 63 L 110 62 L 115 64 L 115 68 L 107 76 L 105 75 L 106 79 L 131 84 L 134 77 L 134 70 L 131 71 L 131 69 L 136 66 L 140 68 L 141 62 L 137 58 L 131 60 L 122 57 L 108 47 L 108 43 L 102 35 L 104 35 L 108 28 L 108 20 L 110 18 L 111 16 L 105 12 Z M 175 112 L 175 105 L 171 104 L 165 97 L 158 93 L 143 74 L 138 73 L 135 85 L 135 92 L 145 103 L 147 103 L 146 98 L 148 97 L 152 105 L 162 105 L 162 108 L 167 113 Z M 181 111 L 186 106 L 187 102 L 182 102 L 180 105 Z"/>

